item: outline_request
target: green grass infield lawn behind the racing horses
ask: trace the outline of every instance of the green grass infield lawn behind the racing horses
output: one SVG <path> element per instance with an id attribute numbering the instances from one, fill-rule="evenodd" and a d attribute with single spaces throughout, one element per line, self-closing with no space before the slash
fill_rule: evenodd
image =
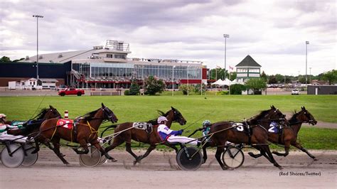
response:
<path id="1" fill-rule="evenodd" d="M 98 109 L 101 102 L 117 115 L 119 123 L 124 121 L 147 121 L 158 116 L 156 109 L 166 112 L 170 107 L 178 109 L 188 121 L 188 129 L 200 127 L 204 119 L 210 121 L 248 119 L 261 110 L 274 105 L 282 112 L 293 112 L 295 109 L 306 109 L 318 121 L 337 123 L 336 95 L 206 95 L 172 97 L 171 93 L 161 96 L 107 96 L 107 97 L 0 97 L 0 113 L 7 115 L 9 120 L 26 120 L 33 117 L 36 109 L 53 105 L 63 114 L 69 111 L 69 117 L 74 118 Z M 39 104 L 41 103 L 40 107 Z M 183 126 L 185 127 L 185 126 Z M 173 129 L 181 128 L 173 124 Z M 304 128 L 300 131 L 300 139 L 310 148 L 336 149 L 337 134 L 334 129 Z M 188 134 L 185 134 L 188 135 Z M 198 135 L 197 135 L 198 136 Z M 328 138 L 327 138 L 328 137 Z M 314 141 L 313 141 L 314 140 Z M 315 142 L 316 141 L 316 142 Z M 311 144 L 322 143 L 314 145 Z M 326 146 L 325 143 L 328 143 Z"/>

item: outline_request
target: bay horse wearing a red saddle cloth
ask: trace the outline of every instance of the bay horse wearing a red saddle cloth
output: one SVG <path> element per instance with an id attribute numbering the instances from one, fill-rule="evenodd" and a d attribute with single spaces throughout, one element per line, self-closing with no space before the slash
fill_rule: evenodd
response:
<path id="1" fill-rule="evenodd" d="M 101 154 L 105 155 L 108 159 L 114 159 L 105 153 L 105 150 L 100 146 L 97 140 L 97 132 L 102 121 L 112 121 L 112 123 L 117 122 L 118 119 L 108 107 L 102 103 L 102 107 L 99 109 L 85 114 L 84 117 L 77 119 L 77 123 L 71 124 L 71 129 L 69 129 L 68 124 L 58 124 L 59 119 L 48 119 L 43 121 L 40 127 L 40 133 L 36 136 L 36 150 L 32 153 L 36 153 L 38 148 L 38 142 L 41 141 L 43 144 L 48 145 L 48 141 L 52 141 L 55 145 L 53 151 L 56 153 L 58 158 L 64 163 L 68 164 L 68 161 L 63 158 L 63 154 L 60 153 L 60 139 L 66 141 L 72 141 L 80 144 L 84 151 L 79 151 L 74 148 L 77 154 L 85 154 L 89 152 L 87 144 L 95 146 Z M 60 121 L 65 121 L 60 119 Z M 60 123 L 60 122 L 59 122 Z"/>

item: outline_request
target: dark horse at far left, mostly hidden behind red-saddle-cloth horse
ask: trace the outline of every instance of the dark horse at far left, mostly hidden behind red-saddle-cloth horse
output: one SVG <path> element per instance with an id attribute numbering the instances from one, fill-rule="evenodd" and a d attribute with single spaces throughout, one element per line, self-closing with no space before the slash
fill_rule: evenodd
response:
<path id="1" fill-rule="evenodd" d="M 9 129 L 7 133 L 13 135 L 28 136 L 29 134 L 38 132 L 41 124 L 46 119 L 60 118 L 60 117 L 61 115 L 58 112 L 58 110 L 55 109 L 53 106 L 49 105 L 48 109 L 46 108 L 41 109 L 41 111 L 38 113 L 38 115 L 36 115 L 36 117 L 24 122 L 21 128 Z"/>

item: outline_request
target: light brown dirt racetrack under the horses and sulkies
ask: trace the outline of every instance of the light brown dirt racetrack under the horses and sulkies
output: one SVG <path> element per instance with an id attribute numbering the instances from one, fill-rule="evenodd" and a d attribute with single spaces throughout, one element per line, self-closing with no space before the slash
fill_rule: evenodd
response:
<path id="1" fill-rule="evenodd" d="M 153 151 L 133 166 L 129 153 L 112 151 L 109 154 L 117 162 L 85 168 L 73 150 L 61 151 L 70 166 L 64 166 L 46 148 L 31 167 L 0 164 L 0 188 L 337 188 L 337 151 L 311 151 L 319 161 L 291 151 L 287 157 L 275 157 L 283 170 L 265 158 L 253 159 L 245 151 L 243 166 L 233 171 L 222 171 L 212 151 L 197 171 L 179 170 L 173 152 Z"/>

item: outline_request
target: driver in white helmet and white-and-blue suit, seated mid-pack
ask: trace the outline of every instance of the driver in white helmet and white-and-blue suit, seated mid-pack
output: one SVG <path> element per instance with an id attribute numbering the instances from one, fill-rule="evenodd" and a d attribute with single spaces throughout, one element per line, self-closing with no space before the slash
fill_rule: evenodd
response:
<path id="1" fill-rule="evenodd" d="M 178 135 L 183 134 L 183 129 L 179 131 L 173 131 L 169 129 L 168 126 L 166 126 L 166 121 L 168 121 L 166 117 L 159 117 L 157 119 L 157 122 L 159 124 L 157 131 L 161 138 L 161 141 L 168 141 L 170 143 L 178 142 L 182 144 L 188 143 L 188 144 L 198 145 L 198 146 L 200 145 L 200 141 L 198 141 L 197 139 L 188 138 L 186 136 L 178 136 Z"/>

